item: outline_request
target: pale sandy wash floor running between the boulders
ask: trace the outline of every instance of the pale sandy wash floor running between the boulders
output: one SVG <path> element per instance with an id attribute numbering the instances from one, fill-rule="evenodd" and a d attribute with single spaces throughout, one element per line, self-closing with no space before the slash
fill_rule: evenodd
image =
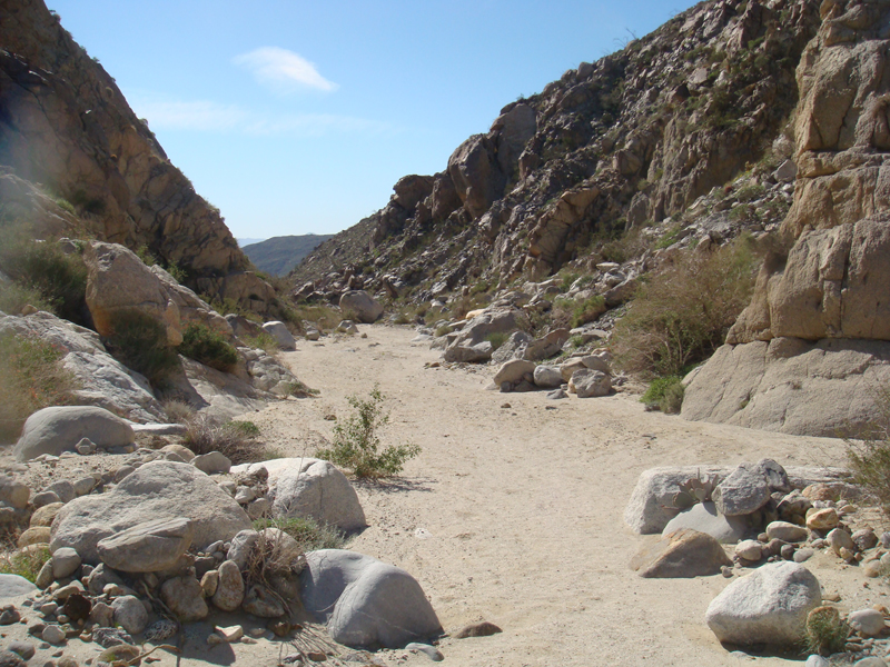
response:
<path id="1" fill-rule="evenodd" d="M 423 452 L 388 486 L 360 485 L 369 527 L 349 548 L 412 573 L 446 630 L 490 620 L 504 633 L 444 639 L 467 666 L 738 665 L 703 621 L 723 577 L 641 579 L 627 569 L 646 539 L 622 515 L 640 472 L 653 466 L 837 465 L 838 440 L 782 436 L 645 412 L 633 396 L 546 400 L 543 392 L 486 391 L 493 370 L 425 368 L 408 328 L 363 327 L 367 338 L 303 342 L 284 360 L 322 391 L 254 419 L 283 455 L 312 454 L 347 415 L 346 397 L 375 384 L 389 397 L 385 441 Z M 506 407 L 504 404 L 508 404 Z M 876 526 L 877 528 L 877 526 Z M 849 605 L 887 604 L 879 585 L 808 564 Z M 849 591 L 848 591 L 849 589 Z M 392 664 L 404 651 L 382 657 Z M 409 657 L 422 664 L 426 657 Z M 756 658 L 762 665 L 791 661 Z M 799 664 L 799 663 L 798 663 Z"/>

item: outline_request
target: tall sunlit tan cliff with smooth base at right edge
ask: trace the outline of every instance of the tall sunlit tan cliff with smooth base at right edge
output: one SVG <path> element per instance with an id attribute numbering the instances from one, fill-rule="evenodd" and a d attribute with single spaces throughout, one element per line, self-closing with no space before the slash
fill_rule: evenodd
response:
<path id="1" fill-rule="evenodd" d="M 890 7 L 827 0 L 820 16 L 798 68 L 791 248 L 691 381 L 690 419 L 833 436 L 867 425 L 890 382 Z"/>

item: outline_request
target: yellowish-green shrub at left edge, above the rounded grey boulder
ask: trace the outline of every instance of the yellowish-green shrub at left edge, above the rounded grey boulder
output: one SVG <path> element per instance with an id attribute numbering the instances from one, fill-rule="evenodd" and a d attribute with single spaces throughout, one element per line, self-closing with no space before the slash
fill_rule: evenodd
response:
<path id="1" fill-rule="evenodd" d="M 0 442 L 16 440 L 32 412 L 71 402 L 76 381 L 62 357 L 36 336 L 0 331 Z"/>

